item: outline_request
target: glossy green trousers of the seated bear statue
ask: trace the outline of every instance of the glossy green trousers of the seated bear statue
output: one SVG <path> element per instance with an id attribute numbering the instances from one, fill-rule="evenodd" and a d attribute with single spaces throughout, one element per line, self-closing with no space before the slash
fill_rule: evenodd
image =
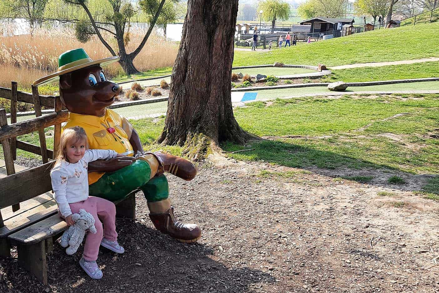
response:
<path id="1" fill-rule="evenodd" d="M 105 173 L 98 181 L 89 186 L 89 195 L 108 199 L 112 202 L 125 199 L 134 190 L 140 188 L 149 202 L 158 202 L 169 196 L 168 180 L 165 175 L 152 177 L 151 168 L 143 160 L 137 160 L 112 173 Z"/>

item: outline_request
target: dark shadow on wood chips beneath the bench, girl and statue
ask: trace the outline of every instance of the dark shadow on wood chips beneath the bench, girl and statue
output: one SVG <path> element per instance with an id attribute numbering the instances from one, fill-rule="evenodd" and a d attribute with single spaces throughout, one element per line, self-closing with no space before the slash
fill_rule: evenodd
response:
<path id="1" fill-rule="evenodd" d="M 15 258 L 9 258 L 0 260 L 0 291 L 248 292 L 252 284 L 275 282 L 262 271 L 215 261 L 209 246 L 178 242 L 140 222 L 118 220 L 116 225 L 126 253 L 101 247 L 97 262 L 103 279 L 92 280 L 79 267 L 83 246 L 68 256 L 56 242 L 47 255 L 49 289 L 19 268 Z"/>

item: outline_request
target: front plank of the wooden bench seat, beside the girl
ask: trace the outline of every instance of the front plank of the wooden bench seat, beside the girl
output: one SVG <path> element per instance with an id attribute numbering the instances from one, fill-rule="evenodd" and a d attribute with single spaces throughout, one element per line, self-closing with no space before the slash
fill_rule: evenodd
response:
<path id="1" fill-rule="evenodd" d="M 67 227 L 67 223 L 56 213 L 43 221 L 9 235 L 8 239 L 12 244 L 31 245 L 57 235 Z"/>

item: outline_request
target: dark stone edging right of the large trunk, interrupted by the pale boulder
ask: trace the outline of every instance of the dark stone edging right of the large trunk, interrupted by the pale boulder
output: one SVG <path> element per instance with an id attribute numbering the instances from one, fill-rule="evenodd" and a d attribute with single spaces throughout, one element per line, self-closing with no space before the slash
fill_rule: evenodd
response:
<path id="1" fill-rule="evenodd" d="M 423 81 L 438 81 L 439 77 L 430 78 L 417 78 L 409 80 L 383 80 L 383 81 L 367 81 L 363 83 L 347 83 L 348 87 L 365 87 L 365 86 L 376 86 L 382 84 L 393 84 L 393 83 L 416 83 Z M 253 90 L 275 90 L 284 88 L 295 88 L 295 87 L 327 87 L 329 83 L 299 83 L 299 84 L 287 84 L 275 87 L 240 87 L 231 89 L 232 92 L 235 91 L 253 91 Z"/>

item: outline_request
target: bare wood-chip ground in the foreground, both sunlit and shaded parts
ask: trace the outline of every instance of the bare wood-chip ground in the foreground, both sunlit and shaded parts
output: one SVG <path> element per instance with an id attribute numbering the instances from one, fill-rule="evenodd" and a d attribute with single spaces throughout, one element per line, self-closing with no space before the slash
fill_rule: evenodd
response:
<path id="1" fill-rule="evenodd" d="M 261 170 L 296 175 L 261 177 Z M 137 221 L 117 221 L 126 253 L 101 249 L 101 281 L 79 268 L 82 248 L 69 257 L 56 243 L 50 286 L 13 258 L 0 260 L 0 292 L 437 293 L 439 203 L 410 191 L 423 179 L 410 177 L 397 190 L 380 181 L 385 171 L 370 171 L 375 179 L 360 184 L 334 181 L 353 170 L 204 163 L 193 181 L 168 176 L 176 216 L 202 227 L 198 244 L 157 232 L 138 193 Z M 383 191 L 392 193 L 377 195 Z"/>

